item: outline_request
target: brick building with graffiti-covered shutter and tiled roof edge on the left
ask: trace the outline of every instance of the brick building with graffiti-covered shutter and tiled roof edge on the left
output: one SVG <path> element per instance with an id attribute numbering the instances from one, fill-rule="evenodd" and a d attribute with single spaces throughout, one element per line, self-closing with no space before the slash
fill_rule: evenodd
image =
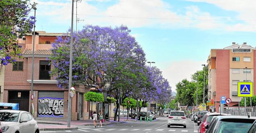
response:
<path id="1" fill-rule="evenodd" d="M 35 117 L 67 117 L 68 90 L 58 88 L 55 77 L 49 74 L 53 65 L 49 65 L 50 61 L 46 59 L 51 54 L 51 44 L 57 39 L 56 36 L 62 36 L 62 33 L 37 32 L 35 36 L 33 82 Z M 32 38 L 32 35 L 28 35 L 18 39 L 24 58 L 1 68 L 0 73 L 0 100 L 19 103 L 20 110 L 25 111 L 30 110 L 31 104 Z M 3 79 L 4 83 L 2 83 Z M 83 98 L 87 91 L 88 89 L 80 87 L 76 89 L 76 95 L 72 99 L 72 120 L 88 119 L 89 108 Z"/>

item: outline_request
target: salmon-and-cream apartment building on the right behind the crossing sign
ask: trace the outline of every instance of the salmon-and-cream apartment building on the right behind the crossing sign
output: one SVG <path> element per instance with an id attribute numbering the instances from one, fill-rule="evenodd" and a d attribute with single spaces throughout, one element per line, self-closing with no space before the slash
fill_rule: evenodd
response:
<path id="1" fill-rule="evenodd" d="M 208 98 L 213 99 L 215 110 L 219 112 L 220 98 L 231 98 L 229 106 L 238 107 L 242 97 L 238 97 L 237 83 L 256 81 L 256 48 L 243 43 L 232 43 L 224 49 L 211 49 L 208 57 Z M 254 95 L 256 90 L 254 89 Z"/>

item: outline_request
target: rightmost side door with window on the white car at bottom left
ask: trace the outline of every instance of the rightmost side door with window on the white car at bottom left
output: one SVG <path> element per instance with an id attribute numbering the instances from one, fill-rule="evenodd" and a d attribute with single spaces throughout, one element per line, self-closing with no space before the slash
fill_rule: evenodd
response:
<path id="1" fill-rule="evenodd" d="M 27 122 L 23 122 L 24 120 L 26 120 Z M 29 118 L 27 116 L 27 113 L 22 113 L 21 117 L 20 117 L 20 123 L 19 123 L 19 132 L 20 133 L 32 133 L 31 131 L 31 126 L 28 122 Z"/>

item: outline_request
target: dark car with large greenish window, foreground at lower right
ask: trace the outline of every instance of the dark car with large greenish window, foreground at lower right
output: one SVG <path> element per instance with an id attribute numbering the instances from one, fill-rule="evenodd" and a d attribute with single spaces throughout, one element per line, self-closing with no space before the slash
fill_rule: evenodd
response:
<path id="1" fill-rule="evenodd" d="M 247 133 L 255 120 L 256 117 L 233 115 L 213 117 L 206 125 L 206 133 Z"/>

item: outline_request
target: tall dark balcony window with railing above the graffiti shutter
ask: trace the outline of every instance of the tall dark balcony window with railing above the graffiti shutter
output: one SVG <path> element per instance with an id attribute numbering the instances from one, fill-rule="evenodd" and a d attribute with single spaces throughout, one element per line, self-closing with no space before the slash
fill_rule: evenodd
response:
<path id="1" fill-rule="evenodd" d="M 50 79 L 50 61 L 40 61 L 39 62 L 39 79 Z"/>

